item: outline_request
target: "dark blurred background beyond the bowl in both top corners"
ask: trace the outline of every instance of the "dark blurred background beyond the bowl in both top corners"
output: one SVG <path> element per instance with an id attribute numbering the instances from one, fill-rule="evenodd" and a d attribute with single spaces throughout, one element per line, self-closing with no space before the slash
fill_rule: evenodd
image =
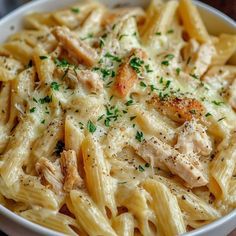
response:
<path id="1" fill-rule="evenodd" d="M 31 0 L 0 0 L 0 18 L 16 7 L 30 1 Z M 219 9 L 236 20 L 236 0 L 201 0 L 201 2 L 205 2 Z"/>

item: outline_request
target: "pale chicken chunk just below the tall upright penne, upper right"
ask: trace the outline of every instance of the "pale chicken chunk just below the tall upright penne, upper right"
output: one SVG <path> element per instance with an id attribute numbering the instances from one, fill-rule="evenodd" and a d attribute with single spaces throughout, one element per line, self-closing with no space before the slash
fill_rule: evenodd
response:
<path id="1" fill-rule="evenodd" d="M 185 72 L 201 77 L 211 64 L 215 55 L 215 48 L 211 43 L 199 45 L 195 39 L 191 39 L 184 48 Z"/>

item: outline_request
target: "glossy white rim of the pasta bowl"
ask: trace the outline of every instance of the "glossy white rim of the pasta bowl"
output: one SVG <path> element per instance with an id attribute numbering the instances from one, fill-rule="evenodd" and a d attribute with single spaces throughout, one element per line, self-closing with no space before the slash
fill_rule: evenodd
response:
<path id="1" fill-rule="evenodd" d="M 231 27 L 236 29 L 236 21 L 234 21 L 232 18 L 230 18 L 226 14 L 222 13 L 221 11 L 219 11 L 218 9 L 216 9 L 212 6 L 209 6 L 206 3 L 199 2 L 198 0 L 193 0 L 193 1 L 198 7 L 204 9 L 205 11 L 210 12 L 213 15 L 216 15 L 216 17 L 218 17 L 218 18 L 223 19 L 224 22 L 228 23 Z M 2 19 L 0 19 L 0 27 L 5 22 L 8 22 L 15 14 L 25 13 L 27 10 L 30 10 L 32 7 L 37 6 L 37 5 L 44 5 L 46 2 L 48 2 L 48 0 L 35 0 L 33 2 L 28 2 L 26 4 L 23 4 L 22 6 L 16 8 L 12 12 L 10 12 L 9 14 L 5 15 Z M 69 4 L 70 3 L 68 3 L 68 5 Z M 55 9 L 56 9 L 56 7 L 55 7 Z M 35 233 L 38 233 L 38 234 L 52 235 L 52 236 L 63 236 L 64 235 L 63 233 L 60 233 L 58 231 L 55 231 L 55 230 L 46 228 L 44 226 L 41 226 L 39 224 L 33 223 L 33 222 L 17 215 L 16 213 L 10 211 L 6 207 L 0 205 L 0 218 L 2 216 L 6 217 L 7 219 L 9 219 L 10 221 L 12 221 L 14 223 L 18 223 L 19 225 L 23 226 L 25 229 L 29 229 L 31 231 L 34 231 Z M 183 236 L 190 236 L 190 235 L 191 236 L 200 236 L 202 234 L 206 234 L 209 231 L 213 230 L 214 228 L 222 226 L 224 223 L 226 223 L 228 220 L 230 220 L 232 218 L 235 218 L 235 221 L 236 221 L 236 209 L 234 209 L 233 211 L 231 211 L 227 215 L 211 222 L 210 224 L 204 225 L 204 226 L 202 226 L 198 229 L 195 229 L 193 231 L 184 233 Z"/>

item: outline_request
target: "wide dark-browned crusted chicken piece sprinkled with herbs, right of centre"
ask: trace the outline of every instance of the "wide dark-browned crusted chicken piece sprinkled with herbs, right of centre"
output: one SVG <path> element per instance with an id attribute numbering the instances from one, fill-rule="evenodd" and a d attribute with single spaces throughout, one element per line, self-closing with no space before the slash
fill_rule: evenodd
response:
<path id="1" fill-rule="evenodd" d="M 167 97 L 162 99 L 159 96 L 153 96 L 148 103 L 163 115 L 179 123 L 200 118 L 204 114 L 203 105 L 194 98 Z"/>

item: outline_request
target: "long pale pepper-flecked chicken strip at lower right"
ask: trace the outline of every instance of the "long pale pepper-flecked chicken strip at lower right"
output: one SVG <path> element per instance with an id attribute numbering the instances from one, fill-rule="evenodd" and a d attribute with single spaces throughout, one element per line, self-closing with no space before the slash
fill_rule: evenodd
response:
<path id="1" fill-rule="evenodd" d="M 166 166 L 173 174 L 182 178 L 191 188 L 204 186 L 207 179 L 200 171 L 197 163 L 192 163 L 188 154 L 181 154 L 168 144 L 152 137 L 144 141 L 137 153 L 154 167 Z"/>

